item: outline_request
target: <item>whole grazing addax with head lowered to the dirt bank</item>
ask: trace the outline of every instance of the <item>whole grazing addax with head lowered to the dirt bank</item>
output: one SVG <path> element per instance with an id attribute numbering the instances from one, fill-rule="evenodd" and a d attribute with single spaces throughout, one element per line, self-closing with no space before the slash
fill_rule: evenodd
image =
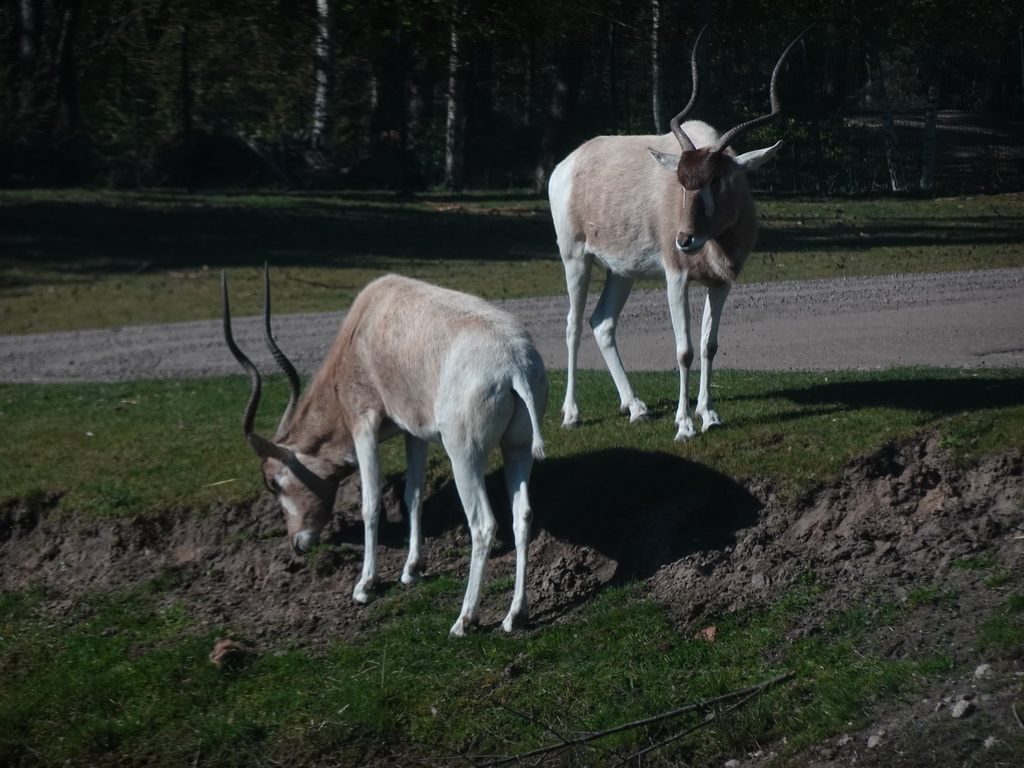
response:
<path id="1" fill-rule="evenodd" d="M 403 433 L 410 537 L 401 581 L 419 581 L 427 443 L 438 441 L 452 460 L 472 538 L 469 583 L 462 612 L 452 627 L 452 635 L 464 635 L 478 618 L 495 538 L 483 475 L 497 445 L 505 460 L 516 546 L 515 592 L 502 627 L 511 632 L 520 626 L 527 616 L 526 551 L 532 516 L 526 485 L 534 459 L 544 455 L 541 420 L 548 401 L 544 362 L 525 329 L 511 314 L 474 296 L 387 275 L 356 297 L 300 398 L 295 368 L 270 332 L 269 276 L 265 280 L 264 336 L 292 390 L 272 440 L 253 431 L 260 375 L 231 336 L 226 282 L 224 338 L 252 380 L 243 429 L 262 460 L 267 488 L 284 508 L 296 552 L 308 552 L 318 543 L 339 483 L 358 469 L 366 553 L 352 597 L 370 600 L 378 584 L 380 442 Z"/>

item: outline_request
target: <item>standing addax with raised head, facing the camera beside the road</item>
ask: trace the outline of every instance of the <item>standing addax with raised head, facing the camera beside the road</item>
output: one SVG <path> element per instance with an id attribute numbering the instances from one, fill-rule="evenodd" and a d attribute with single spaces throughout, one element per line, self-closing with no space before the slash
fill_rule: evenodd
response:
<path id="1" fill-rule="evenodd" d="M 688 440 L 696 435 L 687 399 L 693 362 L 688 295 L 691 281 L 708 287 L 700 328 L 696 415 L 701 419 L 702 431 L 722 423 L 711 398 L 718 326 L 732 282 L 758 233 L 746 172 L 774 157 L 781 141 L 738 156 L 730 145 L 751 129 L 779 115 L 775 81 L 797 40 L 782 52 L 772 72 L 769 115 L 722 134 L 699 121 L 682 123 L 696 99 L 698 36 L 690 63 L 693 78 L 690 100 L 672 119 L 671 133 L 599 136 L 577 148 L 552 172 L 548 194 L 569 295 L 565 330 L 568 374 L 562 426 L 580 423 L 575 399 L 577 355 L 595 258 L 607 267 L 607 279 L 590 325 L 618 389 L 623 413 L 628 412 L 630 420 L 637 421 L 647 415 L 647 407 L 634 393 L 618 356 L 615 345 L 618 315 L 638 278 L 664 274 L 680 375 L 676 439 Z"/>

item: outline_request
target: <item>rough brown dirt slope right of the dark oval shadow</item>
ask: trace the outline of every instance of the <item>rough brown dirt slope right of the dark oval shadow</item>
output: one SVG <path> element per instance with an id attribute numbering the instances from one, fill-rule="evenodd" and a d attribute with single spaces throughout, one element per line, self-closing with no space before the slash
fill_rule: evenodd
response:
<path id="1" fill-rule="evenodd" d="M 854 460 L 839 481 L 797 505 L 770 489 L 757 524 L 733 547 L 662 567 L 653 593 L 683 623 L 770 604 L 803 573 L 830 585 L 838 605 L 869 594 L 905 601 L 907 590 L 954 578 L 953 562 L 987 553 L 1024 565 L 1024 471 L 1016 453 L 965 469 L 930 434 Z"/>

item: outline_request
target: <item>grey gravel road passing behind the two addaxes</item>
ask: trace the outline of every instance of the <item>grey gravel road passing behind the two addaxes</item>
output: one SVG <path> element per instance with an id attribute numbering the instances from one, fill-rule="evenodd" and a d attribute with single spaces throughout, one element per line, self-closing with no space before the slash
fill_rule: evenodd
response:
<path id="1" fill-rule="evenodd" d="M 588 314 L 596 301 L 590 297 Z M 526 324 L 549 368 L 565 367 L 564 296 L 501 302 Z M 702 290 L 691 296 L 702 308 Z M 302 373 L 324 358 L 343 312 L 282 315 L 274 334 Z M 256 317 L 236 337 L 272 370 Z M 586 326 L 585 326 L 586 328 Z M 695 318 L 694 340 L 699 333 Z M 580 360 L 603 368 L 586 329 Z M 675 367 L 664 292 L 636 292 L 620 321 L 628 371 Z M 733 288 L 716 366 L 752 371 L 868 370 L 894 366 L 1024 368 L 1024 267 L 939 274 L 803 281 Z M 240 373 L 216 321 L 58 334 L 0 336 L 0 381 L 128 381 Z"/>

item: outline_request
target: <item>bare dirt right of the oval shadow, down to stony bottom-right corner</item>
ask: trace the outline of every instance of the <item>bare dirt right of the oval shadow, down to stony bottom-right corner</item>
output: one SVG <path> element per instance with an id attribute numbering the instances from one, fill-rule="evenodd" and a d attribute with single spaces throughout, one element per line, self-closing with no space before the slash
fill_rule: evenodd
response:
<path id="1" fill-rule="evenodd" d="M 867 728 L 815 745 L 792 760 L 815 768 L 934 768 L 1007 762 L 1008 734 L 1020 733 L 1024 647 L 994 664 L 978 630 L 995 615 L 1024 573 L 1024 452 L 957 466 L 935 434 L 857 459 L 840 479 L 797 505 L 763 492 L 757 524 L 735 545 L 695 552 L 651 578 L 680 629 L 694 632 L 714 614 L 770 605 L 813 573 L 823 585 L 791 637 L 819 632 L 853 604 L 914 604 L 955 596 L 943 610 L 910 610 L 859 650 L 881 657 L 946 653 L 950 673 L 906 699 L 880 702 Z M 966 563 L 998 563 L 1012 581 L 985 585 Z M 733 761 L 770 765 L 772 755 Z"/>

